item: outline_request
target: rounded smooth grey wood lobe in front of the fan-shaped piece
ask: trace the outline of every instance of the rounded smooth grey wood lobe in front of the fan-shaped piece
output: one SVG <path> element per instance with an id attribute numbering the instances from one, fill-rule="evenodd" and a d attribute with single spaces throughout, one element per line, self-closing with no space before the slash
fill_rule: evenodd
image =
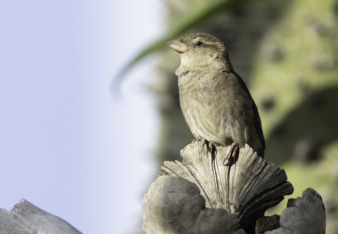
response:
<path id="1" fill-rule="evenodd" d="M 245 234 L 235 214 L 205 208 L 194 183 L 159 176 L 143 197 L 143 233 L 146 234 Z"/>

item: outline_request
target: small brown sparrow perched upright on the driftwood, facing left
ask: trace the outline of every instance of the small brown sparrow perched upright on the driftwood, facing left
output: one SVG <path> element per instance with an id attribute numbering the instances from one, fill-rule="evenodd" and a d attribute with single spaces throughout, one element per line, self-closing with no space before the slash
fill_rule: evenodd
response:
<path id="1" fill-rule="evenodd" d="M 234 71 L 223 42 L 207 33 L 192 33 L 167 45 L 178 52 L 179 102 L 194 141 L 238 148 L 248 144 L 264 158 L 265 140 L 258 108 L 243 79 Z M 194 142 L 193 141 L 193 142 Z"/>

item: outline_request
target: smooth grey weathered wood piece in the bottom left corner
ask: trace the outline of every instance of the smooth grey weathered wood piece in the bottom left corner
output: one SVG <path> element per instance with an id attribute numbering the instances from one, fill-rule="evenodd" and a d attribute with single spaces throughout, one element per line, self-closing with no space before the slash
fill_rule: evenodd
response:
<path id="1" fill-rule="evenodd" d="M 20 199 L 11 211 L 0 208 L 0 233 L 81 234 L 62 218 Z"/>

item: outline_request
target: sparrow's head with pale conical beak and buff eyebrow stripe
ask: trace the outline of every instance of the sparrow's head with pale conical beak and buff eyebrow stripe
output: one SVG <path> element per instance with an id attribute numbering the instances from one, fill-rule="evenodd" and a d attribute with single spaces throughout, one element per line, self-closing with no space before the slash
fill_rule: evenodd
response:
<path id="1" fill-rule="evenodd" d="M 181 57 L 181 66 L 222 66 L 231 70 L 223 42 L 207 33 L 193 33 L 167 43 Z"/>

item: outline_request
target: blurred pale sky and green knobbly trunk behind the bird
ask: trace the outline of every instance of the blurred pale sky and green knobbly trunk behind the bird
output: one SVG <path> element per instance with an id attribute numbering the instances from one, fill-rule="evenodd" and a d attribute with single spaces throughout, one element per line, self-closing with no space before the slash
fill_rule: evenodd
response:
<path id="1" fill-rule="evenodd" d="M 193 139 L 165 43 L 207 32 L 256 101 L 265 160 L 295 188 L 266 215 L 312 187 L 338 233 L 336 0 L 0 3 L 1 208 L 24 197 L 83 233 L 141 233 L 143 193 Z"/>

